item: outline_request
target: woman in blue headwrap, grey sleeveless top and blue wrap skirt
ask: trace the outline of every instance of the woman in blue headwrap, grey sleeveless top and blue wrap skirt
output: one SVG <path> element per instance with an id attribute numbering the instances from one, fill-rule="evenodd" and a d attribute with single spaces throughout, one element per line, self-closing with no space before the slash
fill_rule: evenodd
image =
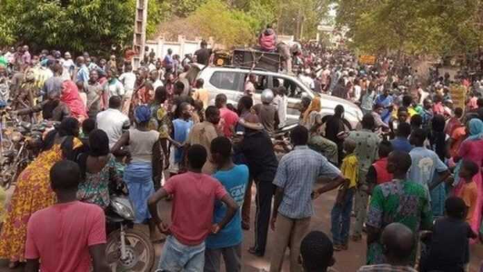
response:
<path id="1" fill-rule="evenodd" d="M 149 129 L 151 109 L 147 105 L 139 105 L 134 110 L 135 128 L 130 128 L 121 136 L 112 153 L 128 156 L 128 164 L 124 169 L 124 182 L 129 191 L 130 201 L 135 208 L 135 223 L 149 223 L 151 239 L 155 239 L 155 223 L 148 210 L 148 198 L 154 193 L 153 163 L 162 162 L 155 158 L 160 150 L 160 133 Z M 121 150 L 129 145 L 129 151 Z M 162 167 L 157 165 L 156 167 Z"/>

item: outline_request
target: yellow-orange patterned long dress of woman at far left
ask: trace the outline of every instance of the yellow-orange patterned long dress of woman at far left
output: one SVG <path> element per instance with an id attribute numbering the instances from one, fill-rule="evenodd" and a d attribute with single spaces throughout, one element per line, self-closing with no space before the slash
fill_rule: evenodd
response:
<path id="1" fill-rule="evenodd" d="M 81 146 L 74 138 L 74 148 Z M 56 203 L 51 189 L 49 172 L 53 164 L 62 160 L 60 144 L 40 155 L 20 173 L 12 200 L 7 207 L 5 221 L 0 232 L 0 259 L 25 262 L 27 223 L 30 216 Z"/>

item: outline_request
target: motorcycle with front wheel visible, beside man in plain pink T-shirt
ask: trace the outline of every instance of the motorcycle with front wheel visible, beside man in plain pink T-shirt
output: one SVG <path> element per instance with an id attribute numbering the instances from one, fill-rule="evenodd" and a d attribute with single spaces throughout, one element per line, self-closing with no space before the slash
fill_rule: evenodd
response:
<path id="1" fill-rule="evenodd" d="M 134 208 L 119 187 L 110 190 L 110 205 L 105 211 L 108 242 L 105 256 L 111 271 L 151 271 L 155 251 L 149 236 L 134 227 Z"/>

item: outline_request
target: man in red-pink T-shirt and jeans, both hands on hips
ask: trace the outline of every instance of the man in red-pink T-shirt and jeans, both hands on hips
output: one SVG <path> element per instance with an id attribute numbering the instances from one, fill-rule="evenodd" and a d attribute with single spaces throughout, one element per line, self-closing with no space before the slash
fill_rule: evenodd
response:
<path id="1" fill-rule="evenodd" d="M 203 173 L 206 149 L 194 144 L 187 151 L 188 171 L 167 180 L 164 187 L 149 198 L 149 212 L 166 239 L 158 269 L 160 271 L 203 271 L 205 266 L 205 238 L 218 233 L 237 211 L 237 203 L 226 192 L 221 183 Z M 162 223 L 158 215 L 158 202 L 173 195 L 171 226 Z M 212 224 L 216 200 L 227 206 L 226 214 L 219 223 Z"/>

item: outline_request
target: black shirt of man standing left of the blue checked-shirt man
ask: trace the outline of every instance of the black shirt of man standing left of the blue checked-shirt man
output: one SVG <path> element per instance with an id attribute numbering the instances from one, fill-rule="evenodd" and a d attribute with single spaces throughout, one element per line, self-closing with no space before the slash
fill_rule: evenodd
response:
<path id="1" fill-rule="evenodd" d="M 235 153 L 243 153 L 250 175 L 260 181 L 273 182 L 278 160 L 273 144 L 264 131 L 246 133 L 242 142 L 235 146 Z"/>

